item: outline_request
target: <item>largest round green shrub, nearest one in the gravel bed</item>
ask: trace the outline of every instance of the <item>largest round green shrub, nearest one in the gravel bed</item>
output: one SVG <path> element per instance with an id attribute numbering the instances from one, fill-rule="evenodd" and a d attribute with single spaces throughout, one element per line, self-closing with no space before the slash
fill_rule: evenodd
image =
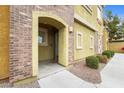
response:
<path id="1" fill-rule="evenodd" d="M 86 57 L 86 65 L 90 68 L 97 69 L 99 67 L 99 59 L 96 56 Z"/>

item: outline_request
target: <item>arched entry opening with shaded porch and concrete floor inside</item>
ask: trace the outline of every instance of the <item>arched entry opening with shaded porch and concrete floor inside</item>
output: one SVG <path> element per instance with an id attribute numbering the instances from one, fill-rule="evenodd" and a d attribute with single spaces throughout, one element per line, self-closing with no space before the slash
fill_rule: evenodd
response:
<path id="1" fill-rule="evenodd" d="M 63 38 L 65 26 L 60 22 L 48 18 L 38 18 L 38 77 L 64 69 Z M 63 65 L 63 66 L 61 66 Z"/>

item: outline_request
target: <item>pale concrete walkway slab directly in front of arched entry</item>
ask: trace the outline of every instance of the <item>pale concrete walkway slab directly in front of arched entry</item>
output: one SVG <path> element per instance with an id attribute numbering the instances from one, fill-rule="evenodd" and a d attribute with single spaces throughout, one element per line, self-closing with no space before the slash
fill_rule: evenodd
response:
<path id="1" fill-rule="evenodd" d="M 78 78 L 67 70 L 42 78 L 38 82 L 41 88 L 95 88 L 95 85 Z"/>

